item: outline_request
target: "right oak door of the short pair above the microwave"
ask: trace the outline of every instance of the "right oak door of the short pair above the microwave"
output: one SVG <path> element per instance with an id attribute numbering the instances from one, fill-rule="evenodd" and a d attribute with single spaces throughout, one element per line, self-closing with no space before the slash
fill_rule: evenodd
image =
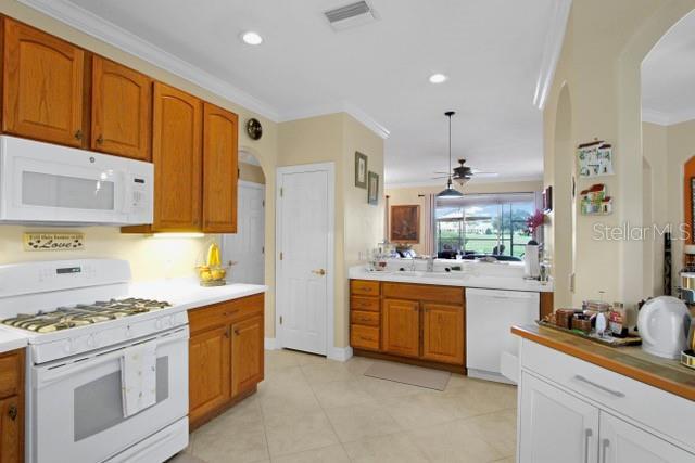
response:
<path id="1" fill-rule="evenodd" d="M 91 91 L 91 149 L 151 160 L 152 80 L 94 56 Z"/>

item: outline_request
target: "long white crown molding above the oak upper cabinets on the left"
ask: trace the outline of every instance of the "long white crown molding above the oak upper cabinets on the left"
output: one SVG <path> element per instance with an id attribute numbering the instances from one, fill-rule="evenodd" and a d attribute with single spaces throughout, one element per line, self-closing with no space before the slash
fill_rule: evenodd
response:
<path id="1" fill-rule="evenodd" d="M 141 39 L 135 34 L 72 3 L 67 0 L 18 0 L 54 20 L 88 34 L 110 46 L 132 54 L 164 70 L 177 75 L 205 90 L 245 107 L 273 121 L 279 119 L 271 105 L 252 97 L 233 85 L 193 66 Z"/>

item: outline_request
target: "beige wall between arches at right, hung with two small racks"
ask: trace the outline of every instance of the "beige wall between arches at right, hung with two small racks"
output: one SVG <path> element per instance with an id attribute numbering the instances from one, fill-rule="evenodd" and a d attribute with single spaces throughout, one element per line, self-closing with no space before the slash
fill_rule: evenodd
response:
<path id="1" fill-rule="evenodd" d="M 594 226 L 619 227 L 629 222 L 640 227 L 644 222 L 640 65 L 666 30 L 693 8 L 694 0 L 583 0 L 572 4 L 544 110 L 544 181 L 555 187 L 556 207 L 564 204 L 567 208 L 561 211 L 563 220 L 556 210 L 546 230 L 546 235 L 554 236 L 557 306 L 578 306 L 584 298 L 597 297 L 598 291 L 605 292 L 607 300 L 630 304 L 653 290 L 644 284 L 645 262 L 654 265 L 645 259 L 644 243 L 595 240 Z M 563 102 L 561 94 L 567 95 L 568 101 Z M 569 104 L 569 120 L 565 103 Z M 557 137 L 561 133 L 556 131 L 558 123 L 566 121 L 570 128 L 569 149 L 558 143 Z M 614 214 L 577 216 L 576 223 L 571 224 L 573 146 L 594 138 L 614 144 L 616 175 L 596 179 L 606 183 L 614 196 Z M 593 179 L 579 179 L 578 189 L 593 182 Z M 568 221 L 570 230 L 566 230 Z M 570 240 L 558 241 L 568 234 Z M 576 274 L 573 292 L 569 287 L 572 271 Z"/>

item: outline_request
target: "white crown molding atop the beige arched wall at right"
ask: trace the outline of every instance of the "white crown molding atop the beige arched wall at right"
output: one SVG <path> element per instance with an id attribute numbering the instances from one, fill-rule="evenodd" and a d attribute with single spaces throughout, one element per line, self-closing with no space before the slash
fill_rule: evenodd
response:
<path id="1" fill-rule="evenodd" d="M 541 59 L 541 70 L 535 82 L 535 92 L 533 94 L 533 105 L 543 111 L 547 95 L 553 87 L 555 78 L 555 69 L 560 59 L 563 43 L 565 42 L 565 31 L 567 30 L 567 21 L 572 7 L 572 0 L 555 0 L 553 7 L 553 16 L 551 26 L 545 35 L 543 44 L 543 56 Z"/>

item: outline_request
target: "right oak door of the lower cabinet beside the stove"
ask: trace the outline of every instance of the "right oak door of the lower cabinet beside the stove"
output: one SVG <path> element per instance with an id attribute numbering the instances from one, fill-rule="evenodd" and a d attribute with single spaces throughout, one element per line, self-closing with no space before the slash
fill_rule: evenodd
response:
<path id="1" fill-rule="evenodd" d="M 231 325 L 231 396 L 253 389 L 263 381 L 263 317 Z"/>

